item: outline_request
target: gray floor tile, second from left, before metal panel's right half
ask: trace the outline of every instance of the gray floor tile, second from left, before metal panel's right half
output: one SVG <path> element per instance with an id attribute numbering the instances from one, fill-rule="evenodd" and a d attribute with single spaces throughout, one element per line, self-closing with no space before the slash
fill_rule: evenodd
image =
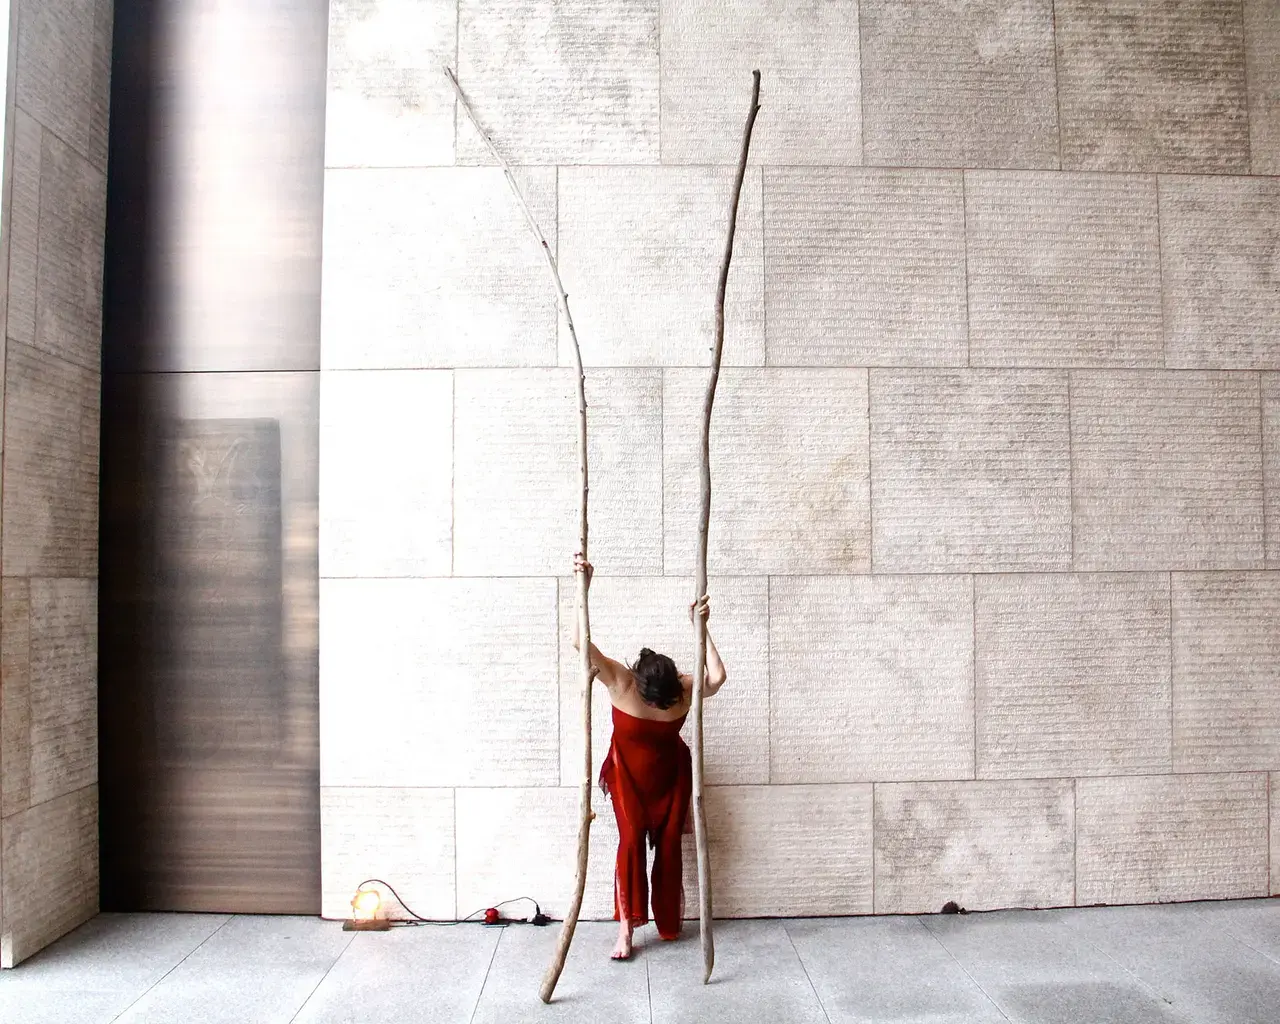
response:
<path id="1" fill-rule="evenodd" d="M 319 918 L 233 918 L 120 1024 L 287 1024 L 351 938 Z"/>

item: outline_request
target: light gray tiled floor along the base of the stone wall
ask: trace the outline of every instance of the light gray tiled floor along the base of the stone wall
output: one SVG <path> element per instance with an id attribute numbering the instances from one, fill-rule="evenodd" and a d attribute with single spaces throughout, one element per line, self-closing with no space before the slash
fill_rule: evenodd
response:
<path id="1" fill-rule="evenodd" d="M 104 914 L 0 974 L 4 1024 L 893 1021 L 1277 1024 L 1280 899 L 964 916 L 721 922 L 689 938 L 582 924 L 556 1001 L 557 925 L 351 934 L 314 918 Z"/>

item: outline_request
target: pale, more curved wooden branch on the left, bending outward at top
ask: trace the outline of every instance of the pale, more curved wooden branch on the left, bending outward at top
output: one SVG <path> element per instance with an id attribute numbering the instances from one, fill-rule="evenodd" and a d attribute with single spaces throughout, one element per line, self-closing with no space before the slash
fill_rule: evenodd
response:
<path id="1" fill-rule="evenodd" d="M 493 138 L 489 137 L 489 133 L 480 124 L 475 110 L 471 109 L 471 104 L 467 102 L 467 97 L 462 92 L 462 86 L 458 84 L 457 76 L 453 74 L 453 69 L 445 68 L 444 73 L 448 76 L 453 91 L 458 95 L 458 105 L 476 127 L 480 138 L 489 147 L 493 159 L 502 166 L 502 173 L 507 175 L 507 184 L 511 186 L 512 195 L 515 195 L 516 202 L 525 215 L 525 221 L 538 239 L 538 244 L 541 246 L 543 256 L 547 257 L 547 270 L 552 275 L 552 284 L 556 288 L 556 298 L 559 302 L 564 324 L 568 326 L 570 340 L 573 342 L 573 365 L 577 369 L 577 465 L 582 484 L 581 499 L 579 502 L 577 536 L 579 550 L 582 553 L 582 558 L 586 558 L 586 498 L 589 492 L 586 475 L 586 378 L 582 374 L 582 349 L 577 344 L 573 315 L 568 310 L 568 294 L 564 292 L 564 285 L 561 282 L 559 268 L 556 265 L 556 255 L 552 252 L 552 247 L 547 244 L 547 236 L 538 227 L 538 221 L 534 219 L 534 214 L 525 201 L 524 192 L 520 191 L 520 184 L 511 170 L 511 164 L 503 159 Z M 538 992 L 543 1002 L 552 1001 L 556 983 L 559 980 L 561 972 L 564 970 L 564 957 L 568 956 L 568 946 L 573 941 L 573 931 L 577 928 L 577 915 L 582 910 L 582 893 L 586 891 L 586 860 L 590 849 L 591 820 L 595 818 L 591 810 L 591 681 L 595 678 L 595 668 L 591 666 L 591 617 L 588 613 L 586 594 L 586 575 L 579 572 L 577 631 L 582 671 L 582 792 L 580 799 L 581 819 L 577 826 L 577 876 L 573 882 L 573 897 L 570 900 L 568 910 L 564 913 L 564 923 L 561 925 L 559 940 L 556 943 L 556 952 L 552 956 L 550 966 L 547 968 L 547 974 L 543 975 L 543 983 Z"/>

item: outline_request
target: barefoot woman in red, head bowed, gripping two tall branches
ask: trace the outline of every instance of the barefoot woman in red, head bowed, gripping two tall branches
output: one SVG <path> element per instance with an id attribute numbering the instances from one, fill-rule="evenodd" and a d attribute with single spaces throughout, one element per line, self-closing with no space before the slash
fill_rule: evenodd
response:
<path id="1" fill-rule="evenodd" d="M 581 554 L 575 570 L 586 573 L 591 564 Z M 704 594 L 689 608 L 692 621 L 710 618 Z M 577 625 L 573 648 L 579 648 Z M 677 938 L 685 916 L 684 859 L 680 837 L 687 831 L 692 795 L 692 764 L 680 728 L 692 700 L 692 677 L 678 672 L 666 654 L 649 648 L 628 668 L 607 658 L 591 644 L 596 678 L 609 691 L 613 704 L 613 740 L 600 769 L 600 788 L 613 801 L 618 822 L 618 859 L 613 874 L 613 919 L 618 922 L 614 960 L 631 956 L 631 934 L 649 923 L 649 879 L 645 840 L 653 847 L 653 919 L 660 938 Z M 703 696 L 724 685 L 724 663 L 710 632 L 707 634 L 707 677 Z"/>

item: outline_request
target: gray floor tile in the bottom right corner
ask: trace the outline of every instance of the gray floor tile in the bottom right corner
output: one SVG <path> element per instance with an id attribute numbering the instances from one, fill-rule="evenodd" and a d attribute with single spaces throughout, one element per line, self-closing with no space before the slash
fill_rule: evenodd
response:
<path id="1" fill-rule="evenodd" d="M 1194 906 L 1062 911 L 1078 934 L 1196 1024 L 1275 1024 L 1280 965 Z"/>

